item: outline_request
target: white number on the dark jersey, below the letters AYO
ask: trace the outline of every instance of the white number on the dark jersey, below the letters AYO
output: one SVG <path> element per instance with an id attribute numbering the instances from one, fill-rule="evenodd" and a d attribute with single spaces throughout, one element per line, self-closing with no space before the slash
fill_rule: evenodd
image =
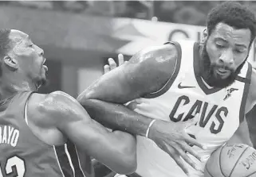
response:
<path id="1" fill-rule="evenodd" d="M 15 169 L 17 172 L 17 175 L 15 177 L 24 177 L 25 176 L 25 171 L 26 171 L 25 162 L 18 156 L 10 157 L 6 161 L 6 175 L 10 175 L 11 173 L 14 172 Z M 1 166 L 0 166 L 0 177 L 3 177 L 2 172 L 3 171 L 1 171 Z"/>

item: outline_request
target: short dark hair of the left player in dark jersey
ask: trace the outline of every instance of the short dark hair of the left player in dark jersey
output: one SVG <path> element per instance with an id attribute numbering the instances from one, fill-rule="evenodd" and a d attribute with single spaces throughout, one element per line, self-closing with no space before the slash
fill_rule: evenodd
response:
<path id="1" fill-rule="evenodd" d="M 2 76 L 2 57 L 6 56 L 12 49 L 12 43 L 9 36 L 10 29 L 0 29 L 0 76 Z"/>

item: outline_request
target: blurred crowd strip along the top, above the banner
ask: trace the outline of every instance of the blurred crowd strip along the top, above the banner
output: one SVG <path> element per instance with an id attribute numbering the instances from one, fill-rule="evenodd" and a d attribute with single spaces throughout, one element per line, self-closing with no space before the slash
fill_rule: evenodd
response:
<path id="1" fill-rule="evenodd" d="M 2 5 L 28 6 L 68 13 L 130 17 L 167 21 L 187 25 L 205 25 L 207 12 L 222 1 L 1 1 Z M 256 2 L 239 1 L 256 11 Z"/>

